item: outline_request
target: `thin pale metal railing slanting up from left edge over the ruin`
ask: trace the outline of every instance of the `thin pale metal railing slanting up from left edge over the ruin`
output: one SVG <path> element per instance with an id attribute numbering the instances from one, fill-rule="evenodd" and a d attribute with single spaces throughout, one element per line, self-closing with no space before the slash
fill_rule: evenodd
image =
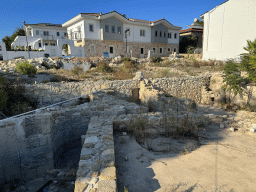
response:
<path id="1" fill-rule="evenodd" d="M 102 91 L 106 91 L 106 90 L 108 90 L 108 89 L 113 89 L 113 88 L 119 87 L 119 86 L 121 86 L 121 85 L 123 85 L 123 84 L 129 83 L 129 82 L 133 82 L 133 81 L 136 81 L 136 80 L 130 80 L 130 81 L 127 81 L 127 82 L 123 82 L 123 83 L 120 83 L 119 85 L 116 85 L 116 86 L 113 86 L 113 87 L 109 87 L 109 88 L 106 88 L 106 89 L 101 89 L 101 90 L 99 90 L 99 91 L 94 91 L 94 92 L 92 92 L 92 93 L 88 93 L 88 94 L 85 94 L 85 95 L 82 95 L 82 96 L 79 96 L 79 97 L 75 97 L 75 98 L 73 98 L 73 99 L 69 99 L 69 100 L 66 100 L 66 101 L 58 102 L 58 103 L 55 103 L 55 104 L 52 104 L 52 105 L 48 105 L 48 106 L 46 106 L 46 107 L 41 107 L 41 108 L 39 108 L 39 109 L 35 109 L 35 110 L 32 110 L 32 111 L 28 111 L 28 112 L 26 112 L 26 113 L 22 113 L 22 114 L 19 114 L 19 115 L 15 115 L 15 116 L 12 116 L 12 117 L 8 117 L 8 118 L 5 118 L 5 119 L 1 119 L 0 122 L 1 122 L 1 121 L 5 121 L 5 120 L 7 120 L 7 119 L 9 120 L 9 119 L 12 119 L 12 118 L 17 118 L 17 117 L 21 117 L 21 116 L 24 116 L 24 115 L 32 114 L 32 113 L 35 113 L 35 112 L 37 112 L 37 111 L 41 111 L 41 110 L 47 109 L 47 108 L 52 107 L 52 106 L 64 104 L 64 103 L 67 103 L 67 102 L 69 102 L 69 101 L 73 101 L 73 100 L 76 100 L 76 99 L 79 99 L 79 98 L 82 98 L 82 97 L 89 96 L 89 95 L 91 95 L 91 94 L 95 94 L 95 93 L 99 93 L 99 92 L 102 92 Z"/>

